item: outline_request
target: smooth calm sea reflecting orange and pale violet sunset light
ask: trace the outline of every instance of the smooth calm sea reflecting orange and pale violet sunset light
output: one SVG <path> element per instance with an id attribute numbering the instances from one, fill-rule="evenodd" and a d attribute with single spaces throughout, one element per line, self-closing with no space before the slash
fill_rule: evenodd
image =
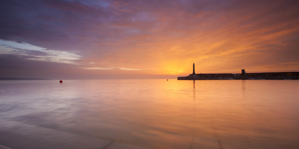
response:
<path id="1" fill-rule="evenodd" d="M 140 148 L 299 148 L 299 80 L 58 82 L 0 81 L 0 127 Z"/>

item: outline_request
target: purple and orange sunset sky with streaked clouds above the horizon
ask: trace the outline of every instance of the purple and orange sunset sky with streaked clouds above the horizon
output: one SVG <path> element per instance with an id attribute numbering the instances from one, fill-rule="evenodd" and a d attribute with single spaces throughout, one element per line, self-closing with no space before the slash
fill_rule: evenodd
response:
<path id="1" fill-rule="evenodd" d="M 299 72 L 299 1 L 0 0 L 0 77 Z"/>

